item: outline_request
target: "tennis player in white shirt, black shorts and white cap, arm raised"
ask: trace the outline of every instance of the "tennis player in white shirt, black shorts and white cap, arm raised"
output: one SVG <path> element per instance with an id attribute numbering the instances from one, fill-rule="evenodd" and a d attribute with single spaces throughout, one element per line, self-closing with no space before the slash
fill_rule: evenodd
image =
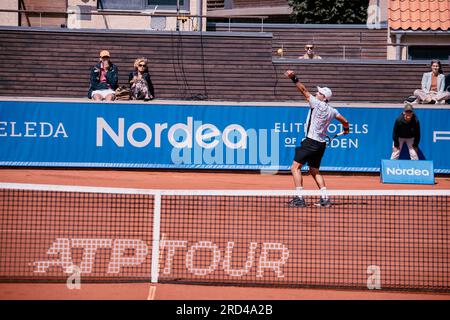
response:
<path id="1" fill-rule="evenodd" d="M 306 202 L 303 199 L 303 177 L 301 168 L 308 163 L 309 172 L 320 189 L 320 201 L 317 206 L 331 206 L 330 199 L 327 194 L 327 188 L 322 175 L 319 173 L 320 162 L 325 153 L 327 129 L 333 119 L 337 119 L 343 125 L 343 134 L 348 134 L 348 121 L 333 107 L 328 104 L 331 99 L 332 92 L 327 87 L 317 87 L 317 93 L 313 96 L 299 81 L 295 72 L 286 71 L 285 75 L 290 78 L 298 91 L 303 94 L 309 102 L 310 111 L 306 120 L 305 128 L 306 138 L 301 142 L 301 146 L 295 148 L 294 161 L 292 162 L 291 172 L 294 178 L 295 188 L 298 195 L 289 201 L 290 207 L 305 207 Z"/>

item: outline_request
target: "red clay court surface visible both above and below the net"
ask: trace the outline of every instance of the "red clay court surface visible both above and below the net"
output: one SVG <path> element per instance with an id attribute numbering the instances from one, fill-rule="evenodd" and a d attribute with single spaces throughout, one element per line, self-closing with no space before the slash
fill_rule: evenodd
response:
<path id="1" fill-rule="evenodd" d="M 382 184 L 377 175 L 326 175 L 329 189 L 449 189 L 450 177 L 437 177 L 435 185 Z M 167 172 L 116 170 L 0 169 L 0 182 L 59 184 L 145 189 L 291 189 L 289 174 L 262 175 L 231 172 Z M 315 190 L 305 175 L 305 189 Z M 450 299 L 450 294 L 356 290 L 317 290 L 197 286 L 181 284 L 0 284 L 0 299 L 160 299 L 160 300 L 271 300 L 271 299 Z"/>

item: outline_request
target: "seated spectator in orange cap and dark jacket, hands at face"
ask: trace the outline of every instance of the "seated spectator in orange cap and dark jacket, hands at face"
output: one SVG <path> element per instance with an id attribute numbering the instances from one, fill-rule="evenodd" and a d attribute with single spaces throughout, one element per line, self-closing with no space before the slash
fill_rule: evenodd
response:
<path id="1" fill-rule="evenodd" d="M 91 68 L 88 97 L 94 101 L 113 101 L 114 90 L 117 89 L 118 69 L 110 61 L 106 50 L 100 52 L 100 61 Z"/>

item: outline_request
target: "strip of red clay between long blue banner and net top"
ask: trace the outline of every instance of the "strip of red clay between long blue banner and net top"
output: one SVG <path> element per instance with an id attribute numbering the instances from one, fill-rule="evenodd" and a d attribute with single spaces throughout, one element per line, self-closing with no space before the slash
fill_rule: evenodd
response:
<path id="1" fill-rule="evenodd" d="M 203 171 L 118 171 L 0 169 L 0 182 L 61 184 L 143 189 L 292 189 L 292 177 L 279 175 Z M 325 174 L 328 189 L 450 189 L 450 176 L 436 177 L 434 185 L 383 184 L 378 175 Z M 304 175 L 305 189 L 317 189 L 313 179 Z"/>

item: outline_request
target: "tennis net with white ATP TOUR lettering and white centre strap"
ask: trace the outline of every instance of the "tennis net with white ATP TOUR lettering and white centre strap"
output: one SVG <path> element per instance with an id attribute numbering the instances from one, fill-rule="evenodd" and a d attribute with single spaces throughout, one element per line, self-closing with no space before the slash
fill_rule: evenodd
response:
<path id="1" fill-rule="evenodd" d="M 449 190 L 0 184 L 0 280 L 450 291 Z"/>

